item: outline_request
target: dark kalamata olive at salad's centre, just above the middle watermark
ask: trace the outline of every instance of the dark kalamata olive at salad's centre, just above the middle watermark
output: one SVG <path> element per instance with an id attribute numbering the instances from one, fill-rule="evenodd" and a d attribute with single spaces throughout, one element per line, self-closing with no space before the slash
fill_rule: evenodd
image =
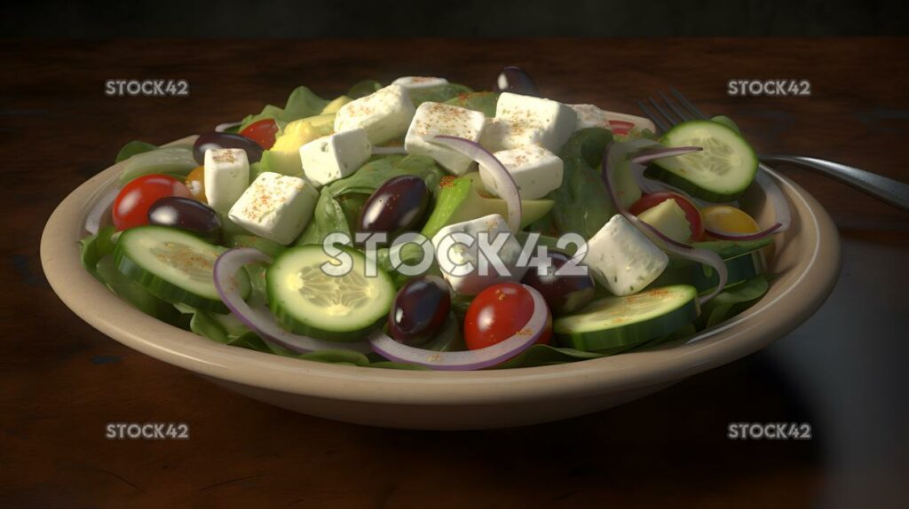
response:
<path id="1" fill-rule="evenodd" d="M 416 230 L 429 204 L 426 182 L 415 175 L 388 179 L 360 211 L 357 231 L 388 233 L 388 241 L 403 231 Z"/>

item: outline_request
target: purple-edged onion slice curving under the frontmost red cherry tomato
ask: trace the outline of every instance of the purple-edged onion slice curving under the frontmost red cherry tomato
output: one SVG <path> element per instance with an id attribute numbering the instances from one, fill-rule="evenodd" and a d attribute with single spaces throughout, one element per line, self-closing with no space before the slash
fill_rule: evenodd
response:
<path id="1" fill-rule="evenodd" d="M 501 343 L 496 343 L 492 347 L 465 352 L 436 352 L 424 348 L 408 347 L 398 343 L 395 339 L 385 335 L 382 330 L 375 331 L 373 337 L 369 338 L 369 344 L 373 346 L 375 353 L 388 360 L 417 364 L 433 369 L 469 371 L 495 366 L 534 346 L 534 343 L 540 338 L 546 327 L 546 318 L 549 316 L 546 301 L 540 295 L 540 292 L 535 289 L 526 285 L 524 285 L 524 288 L 530 291 L 531 297 L 534 298 L 534 313 L 527 320 L 524 328 L 511 338 L 507 338 Z"/>

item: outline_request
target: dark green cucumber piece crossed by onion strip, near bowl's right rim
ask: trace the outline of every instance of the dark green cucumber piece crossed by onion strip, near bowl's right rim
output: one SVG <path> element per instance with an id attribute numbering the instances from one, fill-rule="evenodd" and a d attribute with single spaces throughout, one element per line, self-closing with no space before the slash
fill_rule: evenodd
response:
<path id="1" fill-rule="evenodd" d="M 752 251 L 735 258 L 724 259 L 726 264 L 726 288 L 732 287 L 748 279 L 753 279 L 764 273 L 766 264 L 762 251 Z M 700 263 L 690 261 L 671 260 L 669 266 L 655 279 L 654 288 L 667 285 L 692 285 L 698 292 L 712 289 L 720 283 L 716 271 Z"/>

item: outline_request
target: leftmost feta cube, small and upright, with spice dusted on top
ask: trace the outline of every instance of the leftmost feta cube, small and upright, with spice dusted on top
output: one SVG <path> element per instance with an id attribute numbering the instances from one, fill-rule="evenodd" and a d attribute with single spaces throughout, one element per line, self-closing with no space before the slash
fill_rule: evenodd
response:
<path id="1" fill-rule="evenodd" d="M 205 201 L 219 212 L 230 210 L 249 185 L 249 160 L 243 149 L 205 151 Z"/>

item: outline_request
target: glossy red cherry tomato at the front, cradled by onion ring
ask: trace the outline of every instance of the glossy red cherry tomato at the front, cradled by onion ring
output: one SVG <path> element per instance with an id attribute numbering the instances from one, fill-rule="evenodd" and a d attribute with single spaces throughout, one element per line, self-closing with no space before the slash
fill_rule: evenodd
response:
<path id="1" fill-rule="evenodd" d="M 464 342 L 477 350 L 491 347 L 524 328 L 534 314 L 534 298 L 524 285 L 500 283 L 480 292 L 464 317 Z M 548 344 L 553 335 L 553 318 L 546 308 L 546 325 L 537 343 Z"/>

